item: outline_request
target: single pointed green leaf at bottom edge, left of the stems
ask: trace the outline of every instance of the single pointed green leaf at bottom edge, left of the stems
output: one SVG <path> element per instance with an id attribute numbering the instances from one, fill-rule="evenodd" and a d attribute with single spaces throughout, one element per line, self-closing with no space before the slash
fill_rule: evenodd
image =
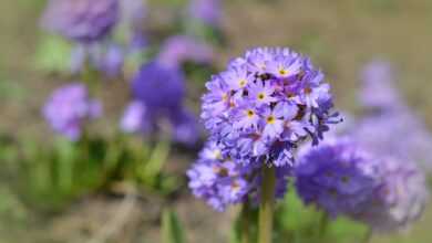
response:
<path id="1" fill-rule="evenodd" d="M 162 242 L 163 243 L 184 243 L 185 235 L 177 215 L 165 210 L 162 215 Z"/>

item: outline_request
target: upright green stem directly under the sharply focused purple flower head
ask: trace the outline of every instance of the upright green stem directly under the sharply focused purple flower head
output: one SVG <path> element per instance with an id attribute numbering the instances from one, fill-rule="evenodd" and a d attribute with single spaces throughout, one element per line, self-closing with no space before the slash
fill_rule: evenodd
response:
<path id="1" fill-rule="evenodd" d="M 274 167 L 263 168 L 261 203 L 259 205 L 258 243 L 271 243 L 276 173 Z"/>

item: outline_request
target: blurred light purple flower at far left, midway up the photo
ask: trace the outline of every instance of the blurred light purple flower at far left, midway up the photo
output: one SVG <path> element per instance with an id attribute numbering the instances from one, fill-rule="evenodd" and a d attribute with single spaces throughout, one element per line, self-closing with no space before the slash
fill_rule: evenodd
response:
<path id="1" fill-rule="evenodd" d="M 101 104 L 91 99 L 80 83 L 55 89 L 43 107 L 43 116 L 51 127 L 71 140 L 78 140 L 85 122 L 101 116 Z"/>

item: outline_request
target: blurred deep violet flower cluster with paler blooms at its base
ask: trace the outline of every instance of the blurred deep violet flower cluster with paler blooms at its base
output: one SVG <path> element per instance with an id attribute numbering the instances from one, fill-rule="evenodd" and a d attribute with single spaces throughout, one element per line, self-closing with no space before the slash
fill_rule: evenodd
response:
<path id="1" fill-rule="evenodd" d="M 174 140 L 195 144 L 199 133 L 194 116 L 183 105 L 184 83 L 178 68 L 156 61 L 144 64 L 133 78 L 134 101 L 124 114 L 121 128 L 146 134 L 168 125 Z"/>

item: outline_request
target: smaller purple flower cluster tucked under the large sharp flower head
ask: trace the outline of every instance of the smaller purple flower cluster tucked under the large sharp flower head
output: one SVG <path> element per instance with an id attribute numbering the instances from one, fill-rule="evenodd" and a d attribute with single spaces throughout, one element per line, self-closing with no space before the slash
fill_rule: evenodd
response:
<path id="1" fill-rule="evenodd" d="M 289 170 L 277 173 L 276 197 L 284 197 Z M 259 200 L 259 167 L 244 166 L 223 155 L 215 142 L 207 142 L 199 159 L 187 171 L 193 193 L 217 211 L 247 200 Z"/>

